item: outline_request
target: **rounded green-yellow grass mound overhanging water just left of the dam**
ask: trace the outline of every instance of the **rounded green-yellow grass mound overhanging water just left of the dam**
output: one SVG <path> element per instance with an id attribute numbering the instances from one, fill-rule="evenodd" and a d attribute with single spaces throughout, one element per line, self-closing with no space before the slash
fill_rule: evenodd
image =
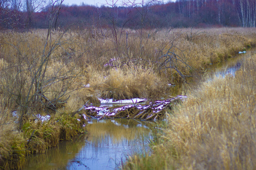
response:
<path id="1" fill-rule="evenodd" d="M 80 118 L 80 117 L 79 117 Z M 55 147 L 60 141 L 70 141 L 72 137 L 85 133 L 83 123 L 72 115 L 62 114 L 43 123 L 27 121 L 22 128 L 27 148 L 31 154 L 43 153 Z"/>

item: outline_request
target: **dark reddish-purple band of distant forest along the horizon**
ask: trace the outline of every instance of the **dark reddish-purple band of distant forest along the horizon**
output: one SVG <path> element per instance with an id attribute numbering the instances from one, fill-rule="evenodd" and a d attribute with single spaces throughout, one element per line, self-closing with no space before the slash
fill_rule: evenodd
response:
<path id="1" fill-rule="evenodd" d="M 32 0 L 25 0 L 27 6 L 23 10 L 15 7 L 13 1 L 5 3 L 7 1 L 9 0 L 0 0 L 0 30 L 48 28 L 55 6 L 45 5 L 36 12 L 31 10 L 32 6 L 29 7 L 28 1 Z M 60 10 L 52 21 L 54 28 L 255 27 L 256 22 L 256 0 L 178 0 L 169 3 L 141 1 L 136 5 L 127 3 L 126 6 L 111 3 L 101 7 L 56 5 L 57 7 Z"/>

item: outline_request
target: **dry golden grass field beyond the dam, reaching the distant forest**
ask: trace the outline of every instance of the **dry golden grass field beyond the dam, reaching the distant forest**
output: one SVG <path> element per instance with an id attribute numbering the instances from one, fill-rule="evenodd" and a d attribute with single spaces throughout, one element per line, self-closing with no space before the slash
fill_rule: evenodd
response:
<path id="1" fill-rule="evenodd" d="M 116 49 L 113 35 L 109 30 L 95 30 L 93 34 L 90 30 L 56 31 L 52 32 L 52 42 L 46 45 L 45 50 L 46 30 L 24 33 L 4 32 L 0 34 L 1 70 L 7 68 L 9 70 L 2 83 L 16 85 L 12 80 L 20 69 L 23 70 L 23 81 L 30 82 L 33 72 L 29 69 L 36 67 L 40 63 L 40 56 L 55 43 L 59 46 L 51 52 L 47 78 L 64 76 L 64 74 L 75 77 L 65 84 L 63 81 L 53 83 L 50 80 L 48 84 L 44 84 L 47 87 L 49 84 L 52 85 L 46 91 L 50 99 L 54 99 L 60 91 L 71 92 L 88 83 L 96 88 L 79 90 L 79 93 L 75 94 L 86 97 L 77 98 L 76 95 L 71 95 L 76 99 L 70 98 L 69 101 L 80 100 L 84 103 L 92 97 L 97 101 L 96 96 L 115 99 L 130 97 L 154 99 L 166 91 L 167 83 L 180 80 L 175 70 L 164 67 L 159 70 L 160 63 L 163 62 L 160 57 L 168 50 L 182 57 L 184 62 L 191 66 L 188 68 L 184 63 L 176 63 L 181 73 L 191 75 L 195 70 L 204 71 L 209 63 L 222 61 L 234 56 L 243 48 L 255 46 L 254 32 L 254 28 L 149 30 L 143 31 L 141 49 L 138 32 L 127 29 L 122 33 Z M 110 62 L 113 58 L 115 61 Z M 113 65 L 106 66 L 106 63 Z M 15 70 L 14 67 L 18 64 L 22 67 Z M 22 94 L 27 93 L 26 87 L 27 85 L 24 84 Z M 13 89 L 18 90 L 18 87 Z M 67 97 L 68 95 L 63 96 L 63 101 Z M 71 102 L 68 105 L 71 106 Z M 15 105 L 13 107 L 15 108 Z"/>

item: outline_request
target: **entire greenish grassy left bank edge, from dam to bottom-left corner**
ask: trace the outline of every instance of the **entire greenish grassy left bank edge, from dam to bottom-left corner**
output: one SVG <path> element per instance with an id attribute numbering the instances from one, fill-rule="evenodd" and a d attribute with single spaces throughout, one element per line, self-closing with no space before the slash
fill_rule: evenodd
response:
<path id="1" fill-rule="evenodd" d="M 48 121 L 28 120 L 20 131 L 6 134 L 8 145 L 1 146 L 5 152 L 0 155 L 0 169 L 22 169 L 29 154 L 41 154 L 60 141 L 71 141 L 86 133 L 86 120 L 80 114 L 61 114 Z"/>

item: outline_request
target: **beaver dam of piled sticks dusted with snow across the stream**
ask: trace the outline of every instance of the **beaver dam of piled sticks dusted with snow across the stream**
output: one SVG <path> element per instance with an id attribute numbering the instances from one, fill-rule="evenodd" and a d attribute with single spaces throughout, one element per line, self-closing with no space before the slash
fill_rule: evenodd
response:
<path id="1" fill-rule="evenodd" d="M 180 103 L 186 96 L 176 96 L 172 99 L 154 101 L 149 104 L 134 103 L 122 107 L 95 107 L 84 105 L 84 118 L 138 118 L 141 120 L 158 120 L 165 118 L 166 111 L 172 109 L 172 105 Z"/>

